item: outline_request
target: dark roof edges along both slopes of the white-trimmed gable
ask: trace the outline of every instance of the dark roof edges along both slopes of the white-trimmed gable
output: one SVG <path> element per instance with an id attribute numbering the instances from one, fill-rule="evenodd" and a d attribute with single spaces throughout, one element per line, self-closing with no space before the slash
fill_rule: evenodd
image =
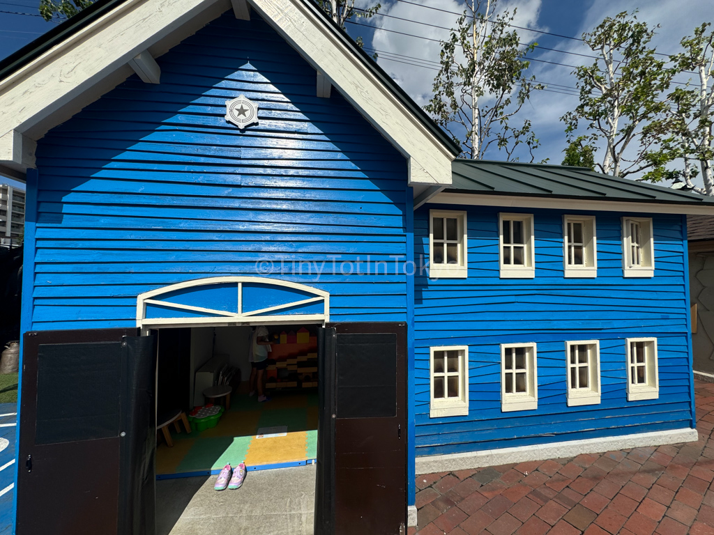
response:
<path id="1" fill-rule="evenodd" d="M 39 38 L 32 41 L 30 44 L 22 47 L 14 54 L 6 57 L 4 60 L 0 61 L 0 80 L 11 75 L 15 71 L 30 63 L 35 58 L 44 54 L 44 52 L 61 44 L 62 41 L 68 39 L 73 34 L 76 34 L 79 30 L 91 24 L 96 19 L 109 13 L 116 6 L 124 4 L 127 0 L 98 0 L 86 9 L 83 9 L 75 16 L 70 17 L 59 26 L 51 29 L 46 34 L 40 36 Z M 430 131 L 434 137 L 440 141 L 443 146 L 446 146 L 453 156 L 458 156 L 461 154 L 461 147 L 453 141 L 451 136 L 448 136 L 438 124 L 436 124 L 431 117 L 427 115 L 421 106 L 418 106 L 416 102 L 412 100 L 410 96 L 396 83 L 392 80 L 383 69 L 378 66 L 377 62 L 374 61 L 365 51 L 363 51 L 353 39 L 348 36 L 346 31 L 341 29 L 335 21 L 333 21 L 325 11 L 323 11 L 320 6 L 318 6 L 313 0 L 301 0 L 303 4 L 311 11 L 311 13 L 321 21 L 321 23 L 326 26 L 340 41 L 346 46 L 347 49 L 351 51 L 354 56 L 357 56 L 366 68 L 373 73 L 376 78 L 378 78 L 381 83 L 383 83 L 391 93 L 396 96 L 396 98 L 404 105 L 406 108 L 413 113 L 413 115 Z"/>

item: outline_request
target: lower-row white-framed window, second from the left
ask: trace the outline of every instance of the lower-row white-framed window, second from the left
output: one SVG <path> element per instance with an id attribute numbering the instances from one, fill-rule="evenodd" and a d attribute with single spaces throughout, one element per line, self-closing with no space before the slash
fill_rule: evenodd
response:
<path id="1" fill-rule="evenodd" d="M 501 411 L 538 409 L 535 343 L 501 344 Z"/>

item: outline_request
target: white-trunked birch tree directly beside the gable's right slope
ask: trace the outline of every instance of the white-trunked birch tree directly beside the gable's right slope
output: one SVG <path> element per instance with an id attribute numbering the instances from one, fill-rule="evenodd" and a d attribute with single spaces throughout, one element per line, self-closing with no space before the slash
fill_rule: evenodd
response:
<path id="1" fill-rule="evenodd" d="M 531 93 L 544 87 L 525 75 L 524 56 L 536 44 L 522 47 L 518 33 L 508 31 L 515 16 L 515 9 L 499 11 L 498 0 L 467 0 L 442 45 L 434 96 L 424 109 L 461 144 L 466 158 L 498 148 L 511 161 L 520 146 L 533 161 L 540 145 L 531 121 L 511 125 Z"/>

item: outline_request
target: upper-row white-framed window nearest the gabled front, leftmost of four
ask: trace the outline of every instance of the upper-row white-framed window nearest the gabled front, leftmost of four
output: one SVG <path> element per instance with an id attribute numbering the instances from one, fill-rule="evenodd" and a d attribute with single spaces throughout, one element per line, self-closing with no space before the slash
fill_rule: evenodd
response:
<path id="1" fill-rule="evenodd" d="M 429 210 L 429 277 L 466 278 L 466 212 Z"/>

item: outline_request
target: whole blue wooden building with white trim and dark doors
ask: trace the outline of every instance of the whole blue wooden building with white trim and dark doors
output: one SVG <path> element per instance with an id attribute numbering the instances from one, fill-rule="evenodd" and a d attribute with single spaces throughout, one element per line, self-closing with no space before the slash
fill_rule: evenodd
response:
<path id="1" fill-rule="evenodd" d="M 714 203 L 458 153 L 309 0 L 100 0 L 4 61 L 17 532 L 151 533 L 178 328 L 318 329 L 316 533 L 415 525 L 418 473 L 695 440 Z"/>

